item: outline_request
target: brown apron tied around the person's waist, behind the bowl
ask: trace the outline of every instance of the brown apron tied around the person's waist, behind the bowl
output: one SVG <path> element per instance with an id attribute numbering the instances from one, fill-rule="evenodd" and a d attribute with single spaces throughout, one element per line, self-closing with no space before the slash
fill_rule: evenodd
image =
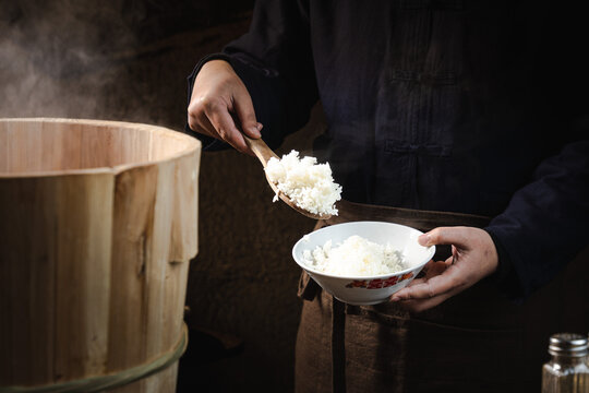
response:
<path id="1" fill-rule="evenodd" d="M 315 229 L 352 221 L 393 222 L 423 231 L 489 222 L 345 201 L 338 210 Z M 449 255 L 449 249 L 440 248 L 434 259 L 445 259 L 444 253 Z M 296 392 L 539 392 L 550 334 L 589 332 L 588 257 L 584 252 L 524 305 L 508 301 L 482 279 L 416 314 L 393 302 L 342 303 L 303 273 Z"/>

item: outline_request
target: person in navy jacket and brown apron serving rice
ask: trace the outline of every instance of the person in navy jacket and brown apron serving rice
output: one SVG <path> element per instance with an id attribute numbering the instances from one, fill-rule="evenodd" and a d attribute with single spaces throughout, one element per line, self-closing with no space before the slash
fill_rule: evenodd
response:
<path id="1" fill-rule="evenodd" d="M 538 391 L 549 335 L 589 331 L 589 261 L 570 262 L 588 245 L 581 15 L 260 0 L 249 33 L 196 64 L 187 132 L 205 150 L 277 146 L 321 100 L 314 154 L 344 200 L 317 227 L 385 219 L 438 246 L 383 305 L 341 303 L 303 273 L 296 391 Z"/>

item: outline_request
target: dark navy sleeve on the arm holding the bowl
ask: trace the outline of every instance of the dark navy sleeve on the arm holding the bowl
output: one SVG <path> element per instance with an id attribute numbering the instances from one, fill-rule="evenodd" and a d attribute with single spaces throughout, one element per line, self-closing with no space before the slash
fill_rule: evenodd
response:
<path id="1" fill-rule="evenodd" d="M 500 251 L 495 278 L 507 296 L 521 300 L 548 284 L 589 245 L 588 222 L 589 141 L 582 140 L 543 160 L 485 228 Z"/>

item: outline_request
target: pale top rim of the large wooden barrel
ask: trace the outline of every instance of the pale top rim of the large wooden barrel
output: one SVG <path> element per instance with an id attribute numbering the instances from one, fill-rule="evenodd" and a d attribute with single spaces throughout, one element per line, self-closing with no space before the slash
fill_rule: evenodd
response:
<path id="1" fill-rule="evenodd" d="M 163 127 L 146 124 L 140 122 L 131 121 L 117 121 L 117 120 L 99 120 L 99 119 L 70 119 L 70 118 L 45 118 L 45 117 L 35 117 L 35 118 L 0 118 L 0 123 L 9 122 L 53 122 L 53 123 L 71 123 L 71 124 L 88 124 L 88 126 L 104 126 L 104 127 L 120 127 L 120 128 L 133 128 L 133 129 L 145 129 L 149 131 L 155 131 L 159 134 L 168 134 L 170 138 L 181 140 L 187 145 L 184 148 L 180 150 L 178 153 L 175 153 L 172 156 L 161 159 L 154 159 L 149 162 L 142 163 L 131 163 L 131 164 L 121 164 L 112 167 L 94 167 L 94 168 L 84 168 L 84 169 L 65 169 L 65 170 L 43 170 L 43 171 L 23 171 L 23 172 L 2 172 L 0 171 L 0 179 L 20 179 L 20 178 L 40 178 L 40 177 L 60 177 L 60 176 L 70 176 L 70 175 L 105 175 L 110 174 L 117 176 L 123 171 L 149 167 L 153 165 L 165 164 L 169 162 L 177 160 L 179 158 L 194 154 L 199 148 L 202 147 L 201 141 L 197 139 L 184 134 L 179 131 Z"/>

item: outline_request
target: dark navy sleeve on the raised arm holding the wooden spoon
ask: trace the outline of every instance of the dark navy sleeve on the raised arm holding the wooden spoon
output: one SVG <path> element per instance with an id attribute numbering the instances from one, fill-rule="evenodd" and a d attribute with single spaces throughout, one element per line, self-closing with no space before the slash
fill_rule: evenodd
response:
<path id="1" fill-rule="evenodd" d="M 227 45 L 223 52 L 203 58 L 188 79 L 188 97 L 196 74 L 213 59 L 228 61 L 252 97 L 262 136 L 271 147 L 303 127 L 318 99 L 311 50 L 308 7 L 302 1 L 259 0 L 249 33 Z M 204 150 L 227 146 L 197 134 Z"/>

